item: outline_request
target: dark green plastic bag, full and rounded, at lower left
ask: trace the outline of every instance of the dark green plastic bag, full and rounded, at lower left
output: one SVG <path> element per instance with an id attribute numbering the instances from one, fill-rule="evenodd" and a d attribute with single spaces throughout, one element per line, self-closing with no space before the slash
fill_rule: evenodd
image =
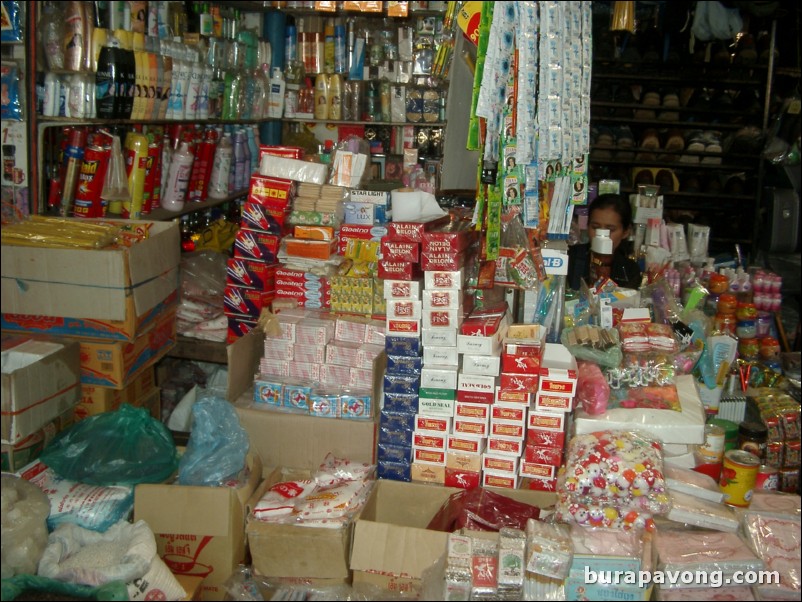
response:
<path id="1" fill-rule="evenodd" d="M 92 485 L 160 483 L 178 466 L 167 427 L 128 404 L 62 431 L 41 460 L 62 477 Z"/>

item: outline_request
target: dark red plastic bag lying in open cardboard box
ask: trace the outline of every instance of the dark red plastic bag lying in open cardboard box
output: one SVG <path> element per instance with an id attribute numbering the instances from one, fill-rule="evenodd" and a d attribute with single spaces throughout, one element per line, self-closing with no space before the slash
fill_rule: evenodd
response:
<path id="1" fill-rule="evenodd" d="M 477 487 L 449 497 L 429 522 L 427 529 L 453 533 L 462 528 L 498 531 L 502 527 L 525 529 L 530 518 L 537 520 L 540 508 Z"/>

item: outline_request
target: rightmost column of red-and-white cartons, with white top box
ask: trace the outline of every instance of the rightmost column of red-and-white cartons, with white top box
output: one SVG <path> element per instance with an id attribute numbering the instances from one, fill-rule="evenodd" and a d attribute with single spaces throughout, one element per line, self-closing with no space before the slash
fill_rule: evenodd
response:
<path id="1" fill-rule="evenodd" d="M 529 489 L 555 491 L 563 461 L 568 420 L 574 409 L 576 360 L 563 345 L 547 343 L 540 359 L 540 385 L 529 412 L 520 474 Z"/>

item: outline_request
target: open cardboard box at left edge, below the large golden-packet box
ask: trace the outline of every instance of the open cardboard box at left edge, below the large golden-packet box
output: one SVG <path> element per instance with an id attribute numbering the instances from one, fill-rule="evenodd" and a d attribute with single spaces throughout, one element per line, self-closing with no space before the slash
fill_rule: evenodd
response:
<path id="1" fill-rule="evenodd" d="M 15 445 L 71 411 L 81 395 L 77 343 L 3 340 L 2 442 Z"/>

